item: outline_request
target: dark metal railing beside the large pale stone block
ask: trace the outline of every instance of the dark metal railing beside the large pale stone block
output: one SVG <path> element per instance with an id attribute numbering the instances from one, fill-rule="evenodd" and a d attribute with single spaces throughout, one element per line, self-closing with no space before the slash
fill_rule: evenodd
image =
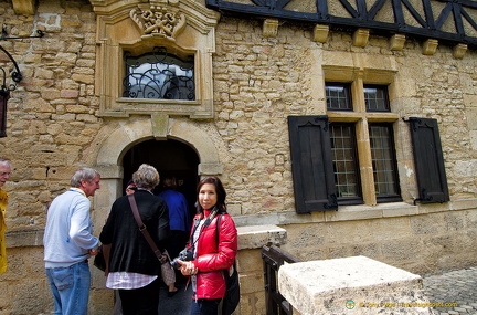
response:
<path id="1" fill-rule="evenodd" d="M 293 315 L 293 306 L 278 292 L 278 269 L 285 263 L 301 260 L 288 252 L 272 245 L 262 248 L 265 280 L 265 305 L 267 315 Z"/>

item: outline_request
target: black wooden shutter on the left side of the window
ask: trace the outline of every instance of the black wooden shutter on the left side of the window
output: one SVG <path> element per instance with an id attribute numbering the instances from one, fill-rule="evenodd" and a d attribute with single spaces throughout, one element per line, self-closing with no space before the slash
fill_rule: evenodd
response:
<path id="1" fill-rule="evenodd" d="M 295 203 L 299 213 L 338 209 L 327 116 L 288 116 Z"/>

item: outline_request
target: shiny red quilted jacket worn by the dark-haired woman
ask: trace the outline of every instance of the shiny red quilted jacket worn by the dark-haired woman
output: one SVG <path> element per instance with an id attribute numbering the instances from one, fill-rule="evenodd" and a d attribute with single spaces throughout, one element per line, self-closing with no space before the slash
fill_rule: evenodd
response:
<path id="1" fill-rule="evenodd" d="M 218 229 L 219 217 L 220 227 Z M 197 214 L 194 221 L 201 218 L 202 214 Z M 199 269 L 195 298 L 222 298 L 225 294 L 222 270 L 233 265 L 237 252 L 237 231 L 232 217 L 229 214 L 215 216 L 210 225 L 202 230 L 195 246 L 197 259 L 193 263 Z"/>

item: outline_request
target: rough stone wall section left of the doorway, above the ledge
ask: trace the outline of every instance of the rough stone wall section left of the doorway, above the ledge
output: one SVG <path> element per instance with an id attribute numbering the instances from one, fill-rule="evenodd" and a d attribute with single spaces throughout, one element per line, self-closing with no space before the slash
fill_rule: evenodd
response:
<path id="1" fill-rule="evenodd" d="M 102 127 L 94 96 L 95 14 L 87 1 L 41 1 L 34 17 L 15 15 L 1 2 L 10 35 L 42 39 L 2 41 L 24 76 L 8 102 L 2 156 L 13 162 L 8 223 L 10 229 L 42 228 L 46 204 L 84 161 L 85 148 Z M 3 57 L 3 55 L 2 55 Z M 11 67 L 8 60 L 2 65 Z"/>

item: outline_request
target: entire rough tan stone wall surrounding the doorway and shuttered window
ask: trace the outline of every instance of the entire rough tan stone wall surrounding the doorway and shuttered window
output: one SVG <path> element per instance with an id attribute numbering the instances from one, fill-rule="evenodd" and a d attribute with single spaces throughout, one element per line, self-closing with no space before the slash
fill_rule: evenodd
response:
<path id="1" fill-rule="evenodd" d="M 150 117 L 105 118 L 98 114 L 96 20 L 88 1 L 39 2 L 31 17 L 17 15 L 9 2 L 0 2 L 9 34 L 45 32 L 42 39 L 1 42 L 19 62 L 24 80 L 12 92 L 8 137 L 0 139 L 1 156 L 13 162 L 11 181 L 4 187 L 10 195 L 10 269 L 1 275 L 0 291 L 6 294 L 0 298 L 0 315 L 51 311 L 41 232 L 49 202 L 68 186 L 73 171 L 81 166 L 96 167 L 105 139 L 127 124 L 140 126 L 142 134 L 134 138 L 127 129 L 118 141 L 127 141 L 128 136 L 134 141 L 155 136 L 142 128 Z M 300 259 L 367 255 L 411 272 L 476 264 L 477 249 L 471 245 L 477 233 L 476 54 L 469 50 L 463 59 L 455 59 L 452 48 L 439 45 L 435 54 L 423 55 L 422 42 L 414 39 L 407 39 L 404 50 L 391 51 L 389 39 L 375 35 L 364 48 L 357 48 L 351 34 L 341 32 L 331 32 L 326 43 L 318 43 L 312 41 L 311 27 L 289 22 L 279 27 L 276 38 L 265 38 L 262 21 L 222 17 L 213 55 L 215 117 L 173 117 L 170 124 L 200 130 L 215 146 L 230 212 L 237 224 L 280 225 L 288 233 L 284 248 Z M 0 64 L 11 66 L 3 54 Z M 416 187 L 409 126 L 401 119 L 395 129 L 403 202 L 296 214 L 286 119 L 288 115 L 326 114 L 322 66 L 330 64 L 389 67 L 394 75 L 393 112 L 400 118 L 438 119 L 452 202 L 413 206 Z M 181 138 L 174 133 L 168 135 Z M 124 147 L 134 141 L 123 143 Z M 114 176 L 105 171 L 99 190 L 105 192 L 94 200 L 94 211 L 102 211 L 95 214 L 96 233 L 109 201 L 119 193 L 120 158 L 120 154 L 112 157 L 117 171 Z M 261 314 L 263 297 L 256 292 L 263 283 L 259 251 L 246 249 L 239 259 L 247 270 L 242 279 L 244 292 L 251 293 L 244 298 L 243 314 L 252 314 L 251 309 Z M 102 288 L 102 281 L 95 273 L 94 290 Z M 110 302 L 110 294 L 102 294 L 93 297 L 96 314 L 104 312 L 99 311 L 102 302 Z"/>

